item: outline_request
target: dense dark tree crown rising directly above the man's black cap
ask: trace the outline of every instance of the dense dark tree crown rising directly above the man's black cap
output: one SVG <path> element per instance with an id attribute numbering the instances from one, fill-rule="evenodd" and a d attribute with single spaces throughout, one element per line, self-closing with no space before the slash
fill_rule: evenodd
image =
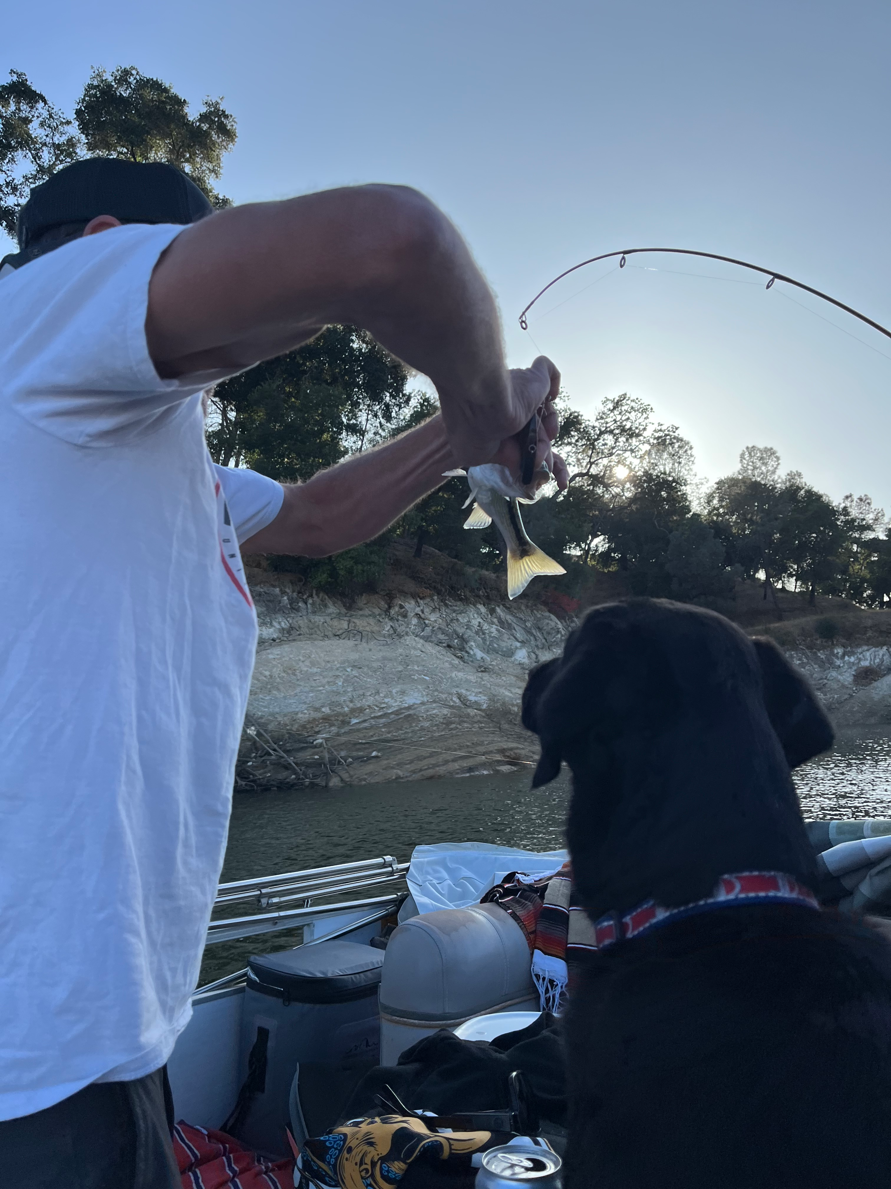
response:
<path id="1" fill-rule="evenodd" d="M 238 136 L 222 100 L 206 99 L 198 114 L 190 117 L 182 95 L 160 78 L 135 67 L 118 67 L 110 74 L 94 69 L 75 119 L 88 153 L 166 162 L 188 174 L 215 206 L 229 205 L 211 184 Z"/>

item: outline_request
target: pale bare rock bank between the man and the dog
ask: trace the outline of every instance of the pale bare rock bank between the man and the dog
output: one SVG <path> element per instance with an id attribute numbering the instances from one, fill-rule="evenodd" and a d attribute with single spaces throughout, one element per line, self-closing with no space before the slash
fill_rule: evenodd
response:
<path id="1" fill-rule="evenodd" d="M 366 596 L 347 606 L 277 586 L 253 593 L 260 646 L 248 730 L 298 765 L 333 754 L 334 779 L 364 784 L 533 761 L 520 694 L 571 619 L 532 603 Z"/>

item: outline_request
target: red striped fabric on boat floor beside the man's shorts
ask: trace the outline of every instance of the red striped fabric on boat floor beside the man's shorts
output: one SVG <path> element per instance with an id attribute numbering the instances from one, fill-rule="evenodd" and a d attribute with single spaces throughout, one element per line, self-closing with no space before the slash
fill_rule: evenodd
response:
<path id="1" fill-rule="evenodd" d="M 223 1131 L 188 1122 L 173 1128 L 183 1189 L 293 1189 L 293 1160 L 274 1164 Z"/>

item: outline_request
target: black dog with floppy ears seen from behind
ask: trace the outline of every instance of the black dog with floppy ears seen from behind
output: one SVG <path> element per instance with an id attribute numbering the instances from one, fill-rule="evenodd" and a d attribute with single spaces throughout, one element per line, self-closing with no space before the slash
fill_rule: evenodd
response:
<path id="1" fill-rule="evenodd" d="M 621 935 L 569 1005 L 568 1189 L 891 1185 L 886 940 L 804 902 L 700 905 L 640 936 L 620 923 L 738 873 L 809 895 L 790 768 L 833 734 L 807 682 L 719 615 L 630 602 L 530 674 L 523 722 L 536 786 L 573 770 L 576 888 L 602 937 Z"/>

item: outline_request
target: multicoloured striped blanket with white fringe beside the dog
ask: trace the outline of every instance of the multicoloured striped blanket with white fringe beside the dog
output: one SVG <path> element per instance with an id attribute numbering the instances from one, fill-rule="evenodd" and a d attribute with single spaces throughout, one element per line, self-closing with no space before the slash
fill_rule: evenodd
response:
<path id="1" fill-rule="evenodd" d="M 532 979 L 542 1011 L 558 1015 L 586 952 L 595 949 L 594 926 L 575 900 L 569 863 L 546 876 L 512 872 L 482 898 L 517 921 L 532 955 Z"/>

